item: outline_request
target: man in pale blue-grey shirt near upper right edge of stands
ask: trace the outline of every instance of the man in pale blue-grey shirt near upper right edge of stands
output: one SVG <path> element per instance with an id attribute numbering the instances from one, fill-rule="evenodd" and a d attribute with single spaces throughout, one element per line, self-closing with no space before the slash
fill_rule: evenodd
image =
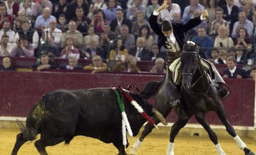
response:
<path id="1" fill-rule="evenodd" d="M 231 36 L 236 38 L 239 35 L 239 29 L 243 27 L 247 30 L 248 36 L 252 36 L 254 31 L 254 23 L 247 19 L 245 12 L 239 12 L 239 20 L 234 23 Z"/>

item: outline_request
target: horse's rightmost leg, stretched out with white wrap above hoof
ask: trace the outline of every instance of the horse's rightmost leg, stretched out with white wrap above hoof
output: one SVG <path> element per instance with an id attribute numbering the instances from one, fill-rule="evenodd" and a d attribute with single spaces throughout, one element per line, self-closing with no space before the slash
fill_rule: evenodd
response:
<path id="1" fill-rule="evenodd" d="M 223 104 L 220 101 L 218 104 L 219 104 L 219 106 L 218 106 L 216 113 L 217 113 L 218 117 L 220 118 L 221 122 L 223 123 L 223 125 L 225 125 L 226 130 L 229 133 L 229 135 L 233 136 L 238 147 L 244 151 L 245 155 L 255 155 L 255 153 L 253 153 L 252 151 L 250 151 L 250 149 L 247 148 L 244 141 L 242 141 L 241 138 L 238 135 L 236 135 L 234 128 L 229 123 L 228 119 L 226 118 L 226 111 L 223 107 Z"/>

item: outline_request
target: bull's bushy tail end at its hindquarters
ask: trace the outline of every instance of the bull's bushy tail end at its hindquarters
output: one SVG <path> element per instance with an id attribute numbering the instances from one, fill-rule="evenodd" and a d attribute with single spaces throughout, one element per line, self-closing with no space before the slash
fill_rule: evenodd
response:
<path id="1" fill-rule="evenodd" d="M 35 124 L 35 128 L 27 128 L 22 124 L 20 120 L 17 119 L 17 124 L 20 127 L 20 131 L 23 135 L 23 140 L 32 141 L 36 139 L 36 135 L 38 133 L 38 123 Z"/>

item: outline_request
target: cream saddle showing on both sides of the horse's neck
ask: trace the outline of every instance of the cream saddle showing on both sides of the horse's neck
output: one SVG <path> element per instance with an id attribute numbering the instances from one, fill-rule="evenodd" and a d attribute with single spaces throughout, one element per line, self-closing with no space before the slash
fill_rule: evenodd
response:
<path id="1" fill-rule="evenodd" d="M 203 66 L 203 70 L 205 70 L 205 72 L 208 73 L 208 76 L 210 77 L 210 79 L 213 79 L 214 77 L 214 73 L 211 69 L 211 64 L 210 62 L 208 62 L 205 59 L 200 59 L 201 64 Z M 171 63 L 168 67 L 169 71 L 172 72 L 172 79 L 173 79 L 173 83 L 175 85 L 181 85 L 181 57 L 178 57 L 177 59 L 175 59 L 173 61 L 173 63 Z"/>

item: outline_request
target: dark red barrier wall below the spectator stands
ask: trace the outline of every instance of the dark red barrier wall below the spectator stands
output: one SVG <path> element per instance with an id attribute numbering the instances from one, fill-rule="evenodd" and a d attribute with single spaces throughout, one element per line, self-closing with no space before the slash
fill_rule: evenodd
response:
<path id="1" fill-rule="evenodd" d="M 135 85 L 140 90 L 147 82 L 161 80 L 163 75 L 75 72 L 3 72 L 0 71 L 0 115 L 25 117 L 36 100 L 56 89 L 86 89 Z M 227 117 L 233 125 L 254 126 L 254 81 L 226 80 L 232 94 L 224 101 Z M 151 103 L 153 100 L 151 99 Z M 176 115 L 168 116 L 174 122 Z M 209 112 L 210 124 L 221 124 L 215 113 Z M 195 119 L 190 123 L 195 123 Z"/>

